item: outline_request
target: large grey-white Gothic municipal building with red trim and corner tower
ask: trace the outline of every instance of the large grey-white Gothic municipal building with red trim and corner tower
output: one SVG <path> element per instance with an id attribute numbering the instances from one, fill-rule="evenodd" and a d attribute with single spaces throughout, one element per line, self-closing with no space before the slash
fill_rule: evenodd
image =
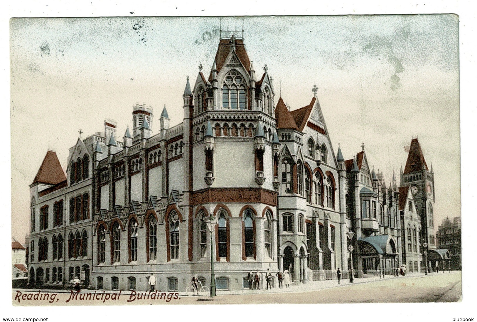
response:
<path id="1" fill-rule="evenodd" d="M 406 227 L 395 176 L 386 186 L 364 146 L 335 154 L 313 93 L 290 111 L 266 65 L 256 75 L 243 39 L 228 35 L 208 75 L 187 77 L 182 123 L 169 126 L 164 107 L 153 134 L 152 107 L 136 104 L 122 141 L 112 120 L 78 139 L 66 175 L 48 151 L 30 188 L 31 284 L 78 276 L 145 290 L 154 273 L 160 290 L 183 291 L 192 274 L 208 285 L 210 213 L 218 290 L 248 287 L 249 270 L 289 270 L 295 282 L 347 272 L 350 244 L 357 277 L 393 273 Z"/>

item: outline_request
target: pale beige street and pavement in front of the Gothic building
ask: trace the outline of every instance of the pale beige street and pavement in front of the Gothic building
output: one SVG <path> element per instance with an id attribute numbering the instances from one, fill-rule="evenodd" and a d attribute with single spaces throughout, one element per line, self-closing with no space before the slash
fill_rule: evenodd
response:
<path id="1" fill-rule="evenodd" d="M 38 291 L 19 290 L 23 294 L 36 294 Z M 117 291 L 86 291 L 84 293 L 107 293 Z M 41 293 L 58 293 L 55 301 L 13 301 L 14 305 L 149 305 L 149 304 L 267 304 L 267 303 L 393 303 L 393 302 L 456 302 L 462 294 L 461 272 L 445 272 L 430 275 L 414 275 L 405 277 L 389 277 L 384 280 L 379 278 L 356 279 L 350 284 L 348 280 L 342 280 L 338 285 L 337 280 L 311 282 L 301 286 L 292 286 L 289 289 L 272 289 L 261 291 L 242 290 L 238 294 L 220 294 L 211 299 L 208 296 L 187 296 L 180 293 L 176 299 L 150 300 L 136 298 L 135 301 L 126 302 L 130 299 L 130 292 L 124 291 L 121 298 L 108 301 L 92 301 L 80 299 L 80 301 L 66 302 L 70 297 L 69 291 L 48 291 Z M 141 292 L 144 293 L 144 292 Z M 12 292 L 15 299 L 17 292 Z M 172 295 L 172 294 L 171 294 Z M 51 296 L 51 295 L 50 295 Z M 45 299 L 43 299 L 45 300 Z"/>

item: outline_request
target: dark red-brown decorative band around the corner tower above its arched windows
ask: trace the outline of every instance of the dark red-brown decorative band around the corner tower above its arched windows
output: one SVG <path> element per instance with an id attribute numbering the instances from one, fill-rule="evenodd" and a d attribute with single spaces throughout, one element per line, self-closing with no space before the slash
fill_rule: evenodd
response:
<path id="1" fill-rule="evenodd" d="M 276 191 L 262 188 L 206 188 L 193 192 L 190 196 L 190 204 L 201 205 L 205 203 L 263 203 L 277 206 Z"/>

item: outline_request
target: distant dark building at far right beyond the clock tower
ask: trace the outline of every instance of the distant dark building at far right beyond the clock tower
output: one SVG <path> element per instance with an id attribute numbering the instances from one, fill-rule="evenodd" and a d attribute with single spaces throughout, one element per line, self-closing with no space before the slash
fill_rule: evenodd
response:
<path id="1" fill-rule="evenodd" d="M 448 249 L 450 255 L 450 269 L 462 269 L 461 257 L 461 222 L 460 216 L 452 218 L 447 217 L 442 221 L 437 230 L 437 247 L 439 249 Z"/>

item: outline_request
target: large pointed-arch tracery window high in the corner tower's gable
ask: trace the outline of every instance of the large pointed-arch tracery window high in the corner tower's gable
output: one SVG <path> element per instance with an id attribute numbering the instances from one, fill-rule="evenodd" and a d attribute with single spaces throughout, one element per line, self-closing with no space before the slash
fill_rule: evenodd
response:
<path id="1" fill-rule="evenodd" d="M 231 71 L 222 84 L 222 108 L 245 109 L 247 103 L 246 89 L 242 76 Z"/>

